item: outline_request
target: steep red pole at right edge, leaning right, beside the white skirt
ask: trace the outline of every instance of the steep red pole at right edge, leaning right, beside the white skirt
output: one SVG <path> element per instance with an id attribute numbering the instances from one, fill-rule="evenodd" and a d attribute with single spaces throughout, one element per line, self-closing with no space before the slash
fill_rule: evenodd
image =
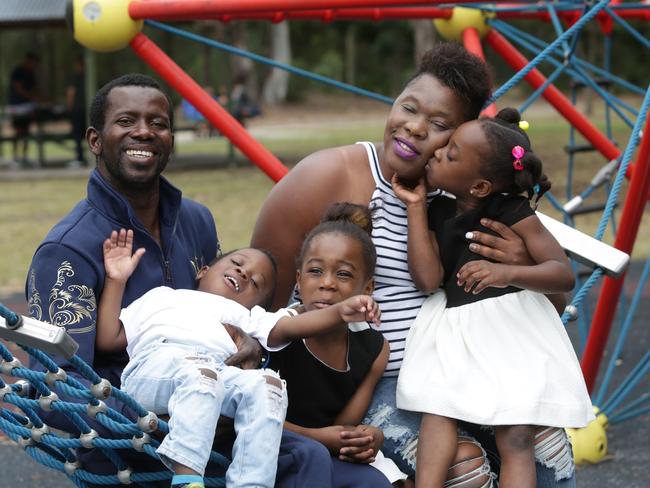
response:
<path id="1" fill-rule="evenodd" d="M 628 254 L 632 254 L 634 241 L 647 202 L 648 188 L 650 188 L 650 118 L 646 120 L 635 167 L 636 170 L 630 180 L 614 242 L 615 248 Z M 589 391 L 593 389 L 596 383 L 600 361 L 607 344 L 609 330 L 612 326 L 624 280 L 625 275 L 618 279 L 612 279 L 609 276 L 605 277 L 598 296 L 596 312 L 591 322 L 591 329 L 589 330 L 589 337 L 587 338 L 587 345 L 581 362 L 582 372 Z"/>

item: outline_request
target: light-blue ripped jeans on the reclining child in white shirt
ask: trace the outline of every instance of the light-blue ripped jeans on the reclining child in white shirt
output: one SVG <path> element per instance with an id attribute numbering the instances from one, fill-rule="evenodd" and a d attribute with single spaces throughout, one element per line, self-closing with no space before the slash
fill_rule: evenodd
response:
<path id="1" fill-rule="evenodd" d="M 226 366 L 202 348 L 152 343 L 133 358 L 122 389 L 156 414 L 169 413 L 169 434 L 157 449 L 172 469 L 205 472 L 219 415 L 234 418 L 237 437 L 226 485 L 272 487 L 287 409 L 284 383 L 270 370 Z"/>

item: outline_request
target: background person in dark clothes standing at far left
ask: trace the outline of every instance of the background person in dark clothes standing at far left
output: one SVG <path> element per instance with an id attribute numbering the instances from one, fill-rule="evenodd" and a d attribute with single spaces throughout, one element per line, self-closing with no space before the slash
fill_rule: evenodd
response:
<path id="1" fill-rule="evenodd" d="M 13 157 L 15 161 L 27 159 L 27 137 L 38 101 L 36 68 L 39 58 L 35 53 L 25 54 L 23 62 L 11 72 L 9 79 L 8 112 L 14 129 Z M 22 151 L 19 152 L 19 146 Z"/>

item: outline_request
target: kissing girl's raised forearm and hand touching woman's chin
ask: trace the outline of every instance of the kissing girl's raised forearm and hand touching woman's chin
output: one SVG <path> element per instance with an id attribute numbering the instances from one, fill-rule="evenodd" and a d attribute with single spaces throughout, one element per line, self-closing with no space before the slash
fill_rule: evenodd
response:
<path id="1" fill-rule="evenodd" d="M 424 180 L 411 189 L 402 185 L 394 175 L 391 184 L 397 198 L 406 205 L 409 273 L 419 290 L 431 293 L 440 287 L 444 273 L 438 241 L 435 234 L 429 231 Z"/>

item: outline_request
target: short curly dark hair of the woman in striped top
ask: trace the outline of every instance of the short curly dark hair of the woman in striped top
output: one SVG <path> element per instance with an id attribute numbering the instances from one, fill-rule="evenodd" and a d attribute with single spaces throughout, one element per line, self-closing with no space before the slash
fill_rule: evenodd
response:
<path id="1" fill-rule="evenodd" d="M 478 117 L 490 97 L 492 77 L 487 65 L 456 42 L 439 42 L 424 53 L 406 84 L 425 74 L 434 76 L 460 97 L 465 120 Z"/>

